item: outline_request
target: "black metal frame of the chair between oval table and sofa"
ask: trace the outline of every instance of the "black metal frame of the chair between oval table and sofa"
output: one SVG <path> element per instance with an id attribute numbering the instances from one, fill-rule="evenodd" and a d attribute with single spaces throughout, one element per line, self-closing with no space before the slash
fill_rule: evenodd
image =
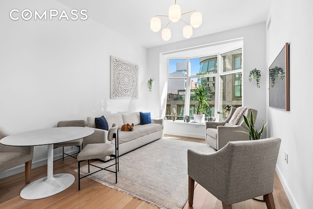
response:
<path id="1" fill-rule="evenodd" d="M 83 161 L 78 161 L 78 190 L 80 190 L 80 180 L 87 177 L 87 176 L 90 176 L 94 173 L 97 173 L 101 170 L 106 170 L 106 171 L 110 171 L 112 173 L 115 173 L 115 184 L 117 184 L 117 172 L 119 171 L 119 161 L 118 161 L 118 157 L 119 157 L 119 154 L 118 154 L 118 129 L 117 129 L 117 133 L 114 133 L 113 134 L 113 138 L 115 139 L 115 155 L 112 154 L 110 155 L 110 157 L 113 157 L 115 159 L 115 163 L 113 163 L 112 165 L 109 165 L 107 167 L 99 167 L 97 165 L 93 165 L 91 163 L 89 163 L 90 160 L 99 160 L 99 161 L 102 161 L 100 159 L 89 159 L 88 160 L 88 173 L 90 172 L 90 165 L 93 166 L 93 167 L 97 167 L 97 168 L 100 168 L 100 170 L 97 170 L 93 173 L 89 173 L 88 175 L 86 176 L 83 176 L 83 177 L 80 177 L 80 163 L 83 162 Z M 112 159 L 111 159 L 112 160 Z M 109 160 L 110 161 L 110 160 Z M 102 162 L 109 162 L 109 161 L 102 161 Z M 109 167 L 112 167 L 113 165 L 115 165 L 115 171 L 112 171 L 112 170 L 109 170 L 108 168 Z"/>

